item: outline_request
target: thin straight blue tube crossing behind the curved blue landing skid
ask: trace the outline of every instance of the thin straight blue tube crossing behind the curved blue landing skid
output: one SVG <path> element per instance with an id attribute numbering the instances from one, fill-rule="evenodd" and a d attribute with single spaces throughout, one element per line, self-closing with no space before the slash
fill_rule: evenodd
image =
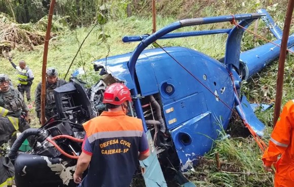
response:
<path id="1" fill-rule="evenodd" d="M 217 29 L 217 30 L 201 30 L 201 31 L 191 31 L 191 32 L 175 32 L 168 33 L 159 39 L 170 39 L 170 38 L 181 38 L 181 37 L 189 37 L 189 36 L 203 36 L 210 34 L 228 34 L 231 29 Z M 148 34 L 144 35 L 135 35 L 135 36 L 124 36 L 123 42 L 132 42 L 132 41 L 141 41 L 148 37 Z"/>

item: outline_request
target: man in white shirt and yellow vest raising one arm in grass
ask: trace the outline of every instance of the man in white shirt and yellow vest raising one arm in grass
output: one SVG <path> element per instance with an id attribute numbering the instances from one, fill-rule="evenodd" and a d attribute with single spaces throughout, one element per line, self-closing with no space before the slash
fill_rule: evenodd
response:
<path id="1" fill-rule="evenodd" d="M 31 69 L 28 68 L 24 60 L 19 61 L 19 66 L 16 66 L 12 59 L 9 58 L 11 65 L 18 71 L 17 80 L 18 85 L 17 89 L 21 93 L 22 97 L 24 98 L 24 92 L 26 94 L 26 100 L 30 101 L 30 87 L 32 85 L 32 80 L 34 79 L 33 73 Z"/>

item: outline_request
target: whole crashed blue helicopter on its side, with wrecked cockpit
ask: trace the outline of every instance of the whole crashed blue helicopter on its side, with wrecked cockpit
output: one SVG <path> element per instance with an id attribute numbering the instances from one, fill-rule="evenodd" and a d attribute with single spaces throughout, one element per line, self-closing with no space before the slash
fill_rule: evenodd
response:
<path id="1" fill-rule="evenodd" d="M 9 157 L 14 160 L 18 187 L 22 186 L 76 186 L 72 181 L 76 160 L 64 156 L 48 143 L 47 138 L 67 134 L 83 138 L 81 124 L 105 109 L 102 103 L 105 87 L 124 82 L 131 90 L 133 103 L 129 115 L 143 121 L 149 139 L 151 156 L 140 162 L 146 186 L 167 186 L 164 171 L 176 166 L 182 171 L 197 163 L 218 137 L 217 131 L 226 129 L 233 109 L 248 122 L 254 132 L 263 135 L 264 124 L 254 115 L 245 96 L 240 96 L 242 80 L 261 71 L 279 56 L 280 48 L 267 43 L 240 53 L 244 29 L 173 32 L 181 27 L 239 21 L 248 27 L 262 18 L 281 43 L 282 31 L 266 10 L 258 13 L 187 19 L 174 22 L 152 35 L 125 36 L 124 42 L 140 41 L 128 54 L 94 61 L 94 69 L 103 78 L 86 89 L 75 77 L 55 89 L 58 115 L 35 131 L 22 133 L 11 148 Z M 145 50 L 158 39 L 227 34 L 225 58 L 215 60 L 203 53 L 182 47 Z M 293 48 L 294 35 L 288 46 Z M 79 74 L 75 72 L 74 75 Z M 219 125 L 220 124 L 220 125 Z M 18 154 L 21 143 L 28 135 L 35 135 L 35 146 L 25 154 Z M 81 153 L 81 144 L 70 139 L 56 140 L 67 153 Z M 36 165 L 38 164 L 38 167 Z M 36 171 L 38 170 L 38 171 Z M 38 175 L 38 177 L 36 177 Z M 178 181 L 193 186 L 185 177 Z"/>

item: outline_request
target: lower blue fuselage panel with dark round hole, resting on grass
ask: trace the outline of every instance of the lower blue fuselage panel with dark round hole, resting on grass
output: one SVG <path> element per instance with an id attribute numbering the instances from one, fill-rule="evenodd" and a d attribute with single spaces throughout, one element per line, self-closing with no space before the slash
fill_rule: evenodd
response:
<path id="1" fill-rule="evenodd" d="M 191 168 L 199 156 L 211 149 L 217 127 L 211 113 L 206 112 L 170 131 L 182 171 Z"/>

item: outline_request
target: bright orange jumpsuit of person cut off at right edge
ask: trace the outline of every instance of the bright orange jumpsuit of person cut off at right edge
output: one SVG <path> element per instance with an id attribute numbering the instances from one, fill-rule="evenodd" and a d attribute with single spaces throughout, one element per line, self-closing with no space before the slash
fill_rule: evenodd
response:
<path id="1" fill-rule="evenodd" d="M 275 187 L 294 186 L 294 100 L 284 106 L 262 160 L 266 166 L 276 162 Z"/>

